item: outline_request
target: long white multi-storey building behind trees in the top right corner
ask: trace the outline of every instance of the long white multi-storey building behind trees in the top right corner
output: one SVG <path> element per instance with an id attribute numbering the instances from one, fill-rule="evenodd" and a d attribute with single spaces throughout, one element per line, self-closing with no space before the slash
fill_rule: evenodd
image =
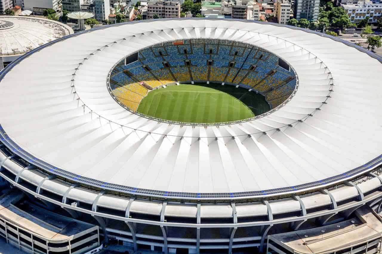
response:
<path id="1" fill-rule="evenodd" d="M 379 1 L 359 1 L 356 4 L 347 2 L 341 5 L 349 16 L 351 23 L 359 23 L 361 19 L 369 17 L 369 23 L 376 23 L 381 18 L 382 2 Z"/>

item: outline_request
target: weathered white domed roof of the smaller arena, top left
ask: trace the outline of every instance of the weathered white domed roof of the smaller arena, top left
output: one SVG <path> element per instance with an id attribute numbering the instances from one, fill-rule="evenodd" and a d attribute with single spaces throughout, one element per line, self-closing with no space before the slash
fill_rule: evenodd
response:
<path id="1" fill-rule="evenodd" d="M 1 16 L 0 54 L 2 56 L 24 54 L 47 42 L 73 33 L 70 27 L 50 19 Z"/>

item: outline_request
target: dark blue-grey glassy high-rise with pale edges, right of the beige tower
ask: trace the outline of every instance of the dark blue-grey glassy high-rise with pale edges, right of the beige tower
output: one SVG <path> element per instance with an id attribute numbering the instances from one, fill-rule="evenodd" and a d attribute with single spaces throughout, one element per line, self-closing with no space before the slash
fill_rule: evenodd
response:
<path id="1" fill-rule="evenodd" d="M 317 21 L 320 8 L 319 0 L 295 0 L 295 17 L 297 20 Z"/>

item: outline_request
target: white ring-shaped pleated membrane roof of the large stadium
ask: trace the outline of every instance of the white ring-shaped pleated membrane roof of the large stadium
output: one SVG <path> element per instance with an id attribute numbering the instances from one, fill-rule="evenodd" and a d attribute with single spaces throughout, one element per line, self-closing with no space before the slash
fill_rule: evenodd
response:
<path id="1" fill-rule="evenodd" d="M 108 74 L 124 56 L 200 37 L 243 41 L 284 58 L 298 76 L 296 94 L 262 117 L 220 126 L 157 122 L 110 96 Z M 376 58 L 329 35 L 252 21 L 101 27 L 7 66 L 0 76 L 0 135 L 53 174 L 129 193 L 238 198 L 317 189 L 381 163 L 382 59 Z"/>

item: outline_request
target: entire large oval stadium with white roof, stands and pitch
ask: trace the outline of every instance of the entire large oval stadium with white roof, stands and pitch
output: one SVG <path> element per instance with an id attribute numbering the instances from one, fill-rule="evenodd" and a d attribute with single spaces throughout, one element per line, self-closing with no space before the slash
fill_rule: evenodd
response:
<path id="1" fill-rule="evenodd" d="M 0 74 L 0 235 L 31 253 L 379 253 L 381 71 L 338 38 L 235 19 L 49 42 Z"/>

